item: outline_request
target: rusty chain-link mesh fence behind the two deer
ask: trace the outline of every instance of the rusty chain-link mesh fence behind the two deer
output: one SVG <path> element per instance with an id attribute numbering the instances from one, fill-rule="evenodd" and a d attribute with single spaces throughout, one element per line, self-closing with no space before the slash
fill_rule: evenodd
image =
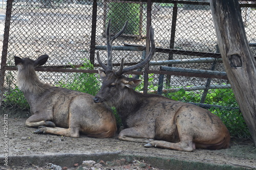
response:
<path id="1" fill-rule="evenodd" d="M 118 8 L 116 8 L 118 7 Z M 240 3 L 248 41 L 252 53 L 255 51 L 255 4 L 250 1 Z M 127 9 L 130 11 L 127 12 Z M 126 11 L 126 13 L 123 13 Z M 114 16 L 116 14 L 116 16 Z M 56 79 L 68 78 L 76 73 L 97 73 L 95 50 L 102 50 L 105 55 L 104 29 L 105 21 L 112 18 L 112 34 L 129 20 L 134 28 L 116 39 L 113 44 L 115 57 L 130 58 L 125 66 L 135 65 L 143 60 L 150 50 L 148 28 L 155 29 L 156 55 L 149 68 L 141 68 L 129 72 L 140 75 L 144 79 L 144 88 L 148 88 L 148 74 L 154 74 L 154 85 L 159 86 L 159 77 L 170 80 L 172 87 L 186 88 L 187 83 L 178 82 L 177 77 L 183 76 L 186 82 L 196 79 L 197 82 L 207 81 L 205 92 L 211 88 L 212 82 L 227 83 L 223 75 L 207 75 L 203 72 L 185 72 L 161 70 L 159 66 L 180 67 L 186 69 L 205 69 L 224 71 L 221 67 L 221 55 L 217 51 L 215 31 L 211 19 L 208 2 L 201 1 L 8 1 L 5 21 L 5 36 L 1 62 L 0 98 L 15 87 L 15 71 L 13 56 L 33 57 L 48 54 L 48 65 L 37 67 L 39 78 L 53 85 Z M 54 23 L 54 24 L 53 24 Z M 138 27 L 137 27 L 138 26 Z M 136 31 L 136 29 L 138 30 Z M 120 44 L 124 44 L 120 46 Z M 131 45 L 132 44 L 132 45 Z M 129 51 L 129 54 L 126 54 Z M 79 69 L 86 66 L 81 62 L 88 59 L 95 67 Z M 83 60 L 82 60 L 83 61 Z M 214 64 L 215 63 L 215 64 Z M 174 66 L 174 64 L 182 64 Z M 114 62 L 113 66 L 120 63 Z M 196 65 L 196 66 L 195 66 Z M 217 66 L 216 66 L 217 65 Z M 202 67 L 202 68 L 201 68 Z M 214 68 L 215 67 L 215 68 Z M 42 72 L 44 71 L 44 72 Z M 7 79 L 7 77 L 10 76 Z M 14 75 L 14 76 L 13 76 Z M 138 78 L 139 76 L 135 76 Z M 5 78 L 5 81 L 4 81 Z M 66 79 L 65 79 L 66 78 Z M 151 82 L 150 82 L 151 83 Z M 178 83 L 178 84 L 177 84 Z M 216 83 L 215 83 L 216 84 Z M 218 85 L 219 85 L 218 84 Z M 146 89 L 145 88 L 145 89 Z M 152 89 L 146 89 L 151 91 Z M 5 96 L 4 96 L 5 98 Z M 202 99 L 202 102 L 204 100 Z M 2 104 L 2 103 L 1 103 Z"/>

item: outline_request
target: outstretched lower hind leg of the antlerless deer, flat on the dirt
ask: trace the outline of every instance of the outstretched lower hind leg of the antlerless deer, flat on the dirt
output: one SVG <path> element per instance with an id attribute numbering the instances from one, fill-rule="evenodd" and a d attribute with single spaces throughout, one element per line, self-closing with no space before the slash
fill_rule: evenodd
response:
<path id="1" fill-rule="evenodd" d="M 43 127 L 39 128 L 34 133 L 49 133 L 49 134 L 55 134 L 60 136 L 67 136 L 67 137 L 79 137 L 79 129 L 65 129 L 65 128 L 59 128 L 59 127 Z"/>

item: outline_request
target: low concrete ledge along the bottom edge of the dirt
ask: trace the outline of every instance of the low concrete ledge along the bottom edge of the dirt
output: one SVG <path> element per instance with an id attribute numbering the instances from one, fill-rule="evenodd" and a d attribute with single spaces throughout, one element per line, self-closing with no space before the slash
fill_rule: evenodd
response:
<path id="1" fill-rule="evenodd" d="M 51 155 L 27 155 L 27 156 L 10 156 L 8 157 L 9 166 L 26 166 L 35 164 L 44 166 L 46 163 L 53 163 L 59 166 L 73 167 L 75 163 L 80 163 L 83 160 L 103 160 L 112 161 L 115 159 L 126 158 L 136 160 L 144 160 L 152 164 L 156 168 L 161 169 L 197 169 L 197 170 L 221 170 L 221 169 L 236 169 L 244 170 L 251 169 L 242 166 L 232 166 L 226 164 L 214 164 L 196 161 L 185 161 L 176 158 L 154 157 L 154 156 L 140 156 L 132 154 L 121 154 L 121 152 L 102 152 L 95 154 L 51 154 Z M 0 166 L 4 166 L 4 158 L 0 158 Z"/>

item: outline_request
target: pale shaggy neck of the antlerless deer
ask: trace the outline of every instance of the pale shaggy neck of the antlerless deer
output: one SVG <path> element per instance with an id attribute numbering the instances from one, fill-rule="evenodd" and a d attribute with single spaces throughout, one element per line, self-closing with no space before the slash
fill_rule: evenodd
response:
<path id="1" fill-rule="evenodd" d="M 22 69 L 18 66 L 17 83 L 18 88 L 22 90 L 24 94 L 32 93 L 34 95 L 41 94 L 49 86 L 40 82 L 32 66 L 30 66 L 29 69 Z"/>

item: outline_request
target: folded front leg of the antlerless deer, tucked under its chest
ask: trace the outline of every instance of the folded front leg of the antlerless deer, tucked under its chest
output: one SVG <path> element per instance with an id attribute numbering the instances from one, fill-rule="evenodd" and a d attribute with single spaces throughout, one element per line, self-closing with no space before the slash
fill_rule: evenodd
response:
<path id="1" fill-rule="evenodd" d="M 45 115 L 33 114 L 26 120 L 25 125 L 27 127 L 32 127 L 32 128 L 37 128 L 39 126 L 54 127 L 55 124 L 49 120 L 50 118 Z"/>

